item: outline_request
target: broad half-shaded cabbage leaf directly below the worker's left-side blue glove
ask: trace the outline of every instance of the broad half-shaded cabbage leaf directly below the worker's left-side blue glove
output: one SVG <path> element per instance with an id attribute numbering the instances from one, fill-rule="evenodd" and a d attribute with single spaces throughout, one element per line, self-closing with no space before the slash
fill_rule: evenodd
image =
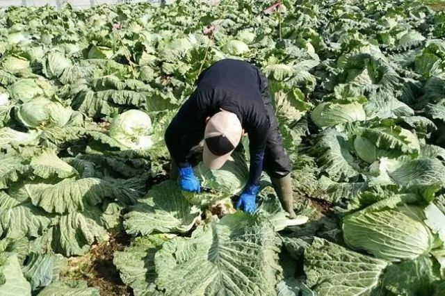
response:
<path id="1" fill-rule="evenodd" d="M 153 186 L 124 215 L 127 233 L 148 235 L 153 231 L 186 232 L 199 219 L 199 209 L 188 204 L 174 181 Z"/>

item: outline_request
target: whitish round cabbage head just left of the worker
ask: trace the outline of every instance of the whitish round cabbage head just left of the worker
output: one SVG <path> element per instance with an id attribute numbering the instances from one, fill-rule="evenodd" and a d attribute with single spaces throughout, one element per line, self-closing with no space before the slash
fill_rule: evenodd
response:
<path id="1" fill-rule="evenodd" d="M 128 110 L 113 119 L 110 136 L 129 149 L 152 147 L 152 120 L 140 110 Z"/>

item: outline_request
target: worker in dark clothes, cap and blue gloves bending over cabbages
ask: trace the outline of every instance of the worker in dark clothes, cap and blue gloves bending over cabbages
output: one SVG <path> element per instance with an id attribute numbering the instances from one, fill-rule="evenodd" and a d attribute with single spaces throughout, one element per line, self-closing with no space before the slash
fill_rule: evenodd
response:
<path id="1" fill-rule="evenodd" d="M 283 148 L 268 82 L 259 69 L 241 60 L 225 59 L 205 69 L 197 88 L 179 108 L 166 132 L 165 142 L 172 158 L 170 176 L 179 176 L 181 190 L 200 192 L 200 181 L 189 163 L 203 142 L 203 162 L 218 170 L 248 134 L 250 169 L 248 183 L 236 208 L 253 213 L 264 170 L 289 217 L 293 211 L 291 163 Z"/>

